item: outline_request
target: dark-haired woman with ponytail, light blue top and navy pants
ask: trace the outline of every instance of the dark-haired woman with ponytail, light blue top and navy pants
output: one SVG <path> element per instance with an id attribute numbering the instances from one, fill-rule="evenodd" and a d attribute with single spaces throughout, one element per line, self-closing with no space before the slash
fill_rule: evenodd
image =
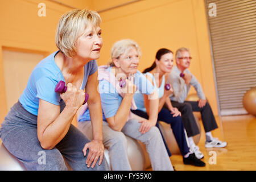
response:
<path id="1" fill-rule="evenodd" d="M 192 154 L 189 151 L 187 140 L 185 138 L 183 122 L 180 117 L 181 113 L 176 107 L 172 107 L 170 98 L 168 97 L 172 93 L 172 88 L 169 90 L 164 89 L 167 80 L 167 73 L 171 72 L 173 66 L 173 57 L 173 53 L 169 49 L 159 49 L 156 53 L 154 63 L 150 68 L 145 69 L 143 73 L 152 85 L 155 86 L 155 90 L 159 95 L 158 121 L 163 121 L 171 125 L 180 152 L 183 155 L 183 163 L 203 167 L 205 166 L 205 163 L 197 159 L 195 154 Z M 140 117 L 148 118 L 148 106 L 146 102 L 144 102 L 142 94 L 134 94 L 134 100 L 138 109 L 132 110 L 132 112 Z M 168 106 L 168 109 L 163 108 L 165 103 Z M 156 126 L 159 128 L 158 122 L 156 123 Z M 171 152 L 168 150 L 166 143 L 165 145 L 169 156 L 171 156 Z"/>

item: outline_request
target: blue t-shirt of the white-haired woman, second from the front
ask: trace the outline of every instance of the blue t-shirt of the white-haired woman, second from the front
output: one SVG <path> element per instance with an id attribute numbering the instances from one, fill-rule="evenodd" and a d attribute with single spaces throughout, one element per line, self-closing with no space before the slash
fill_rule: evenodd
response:
<path id="1" fill-rule="evenodd" d="M 107 71 L 110 72 L 111 68 L 112 67 L 109 67 Z M 139 93 L 149 95 L 154 92 L 154 86 L 139 71 L 134 74 L 134 84 L 138 88 L 134 95 Z M 123 98 L 118 94 L 117 90 L 115 90 L 114 86 L 106 80 L 99 81 L 99 92 L 101 96 L 103 120 L 106 121 L 106 118 L 113 117 L 117 113 Z M 90 121 L 90 114 L 88 109 L 79 117 L 78 121 Z"/>

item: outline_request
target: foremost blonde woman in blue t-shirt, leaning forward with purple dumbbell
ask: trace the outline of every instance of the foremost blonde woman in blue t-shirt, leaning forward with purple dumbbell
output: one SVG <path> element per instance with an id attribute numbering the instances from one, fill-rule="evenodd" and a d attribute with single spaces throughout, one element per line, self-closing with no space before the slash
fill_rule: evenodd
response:
<path id="1" fill-rule="evenodd" d="M 59 50 L 36 65 L 19 101 L 2 123 L 3 144 L 28 170 L 66 170 L 63 156 L 73 170 L 108 169 L 100 94 L 96 92 L 100 23 L 95 11 L 71 10 L 61 16 L 56 31 Z M 65 93 L 55 92 L 59 81 L 66 83 Z M 84 89 L 89 94 L 92 141 L 71 124 L 85 100 Z M 46 160 L 39 163 L 42 155 Z"/>

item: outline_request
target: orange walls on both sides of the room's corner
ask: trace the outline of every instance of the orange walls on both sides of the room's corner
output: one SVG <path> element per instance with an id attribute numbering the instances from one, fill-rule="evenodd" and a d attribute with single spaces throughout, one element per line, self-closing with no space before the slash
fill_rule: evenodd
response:
<path id="1" fill-rule="evenodd" d="M 42 2 L 46 4 L 46 17 L 38 16 L 38 4 Z M 130 1 L 60 2 L 72 7 L 104 10 Z M 0 123 L 7 114 L 2 48 L 44 53 L 45 56 L 56 51 L 57 22 L 68 10 L 67 6 L 47 0 L 0 1 Z M 201 82 L 214 114 L 218 114 L 203 0 L 144 0 L 100 15 L 104 47 L 99 65 L 109 61 L 110 48 L 119 39 L 134 39 L 141 46 L 140 71 L 151 65 L 159 48 L 175 51 L 181 46 L 189 47 L 193 57 L 191 71 Z"/>

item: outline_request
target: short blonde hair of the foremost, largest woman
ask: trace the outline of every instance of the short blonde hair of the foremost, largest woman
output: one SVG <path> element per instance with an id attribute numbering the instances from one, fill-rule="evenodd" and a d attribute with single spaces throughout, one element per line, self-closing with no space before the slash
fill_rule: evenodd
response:
<path id="1" fill-rule="evenodd" d="M 100 26 L 101 17 L 96 11 L 71 10 L 63 14 L 57 25 L 55 43 L 57 48 L 68 57 L 76 54 L 76 41 L 88 26 Z"/>

